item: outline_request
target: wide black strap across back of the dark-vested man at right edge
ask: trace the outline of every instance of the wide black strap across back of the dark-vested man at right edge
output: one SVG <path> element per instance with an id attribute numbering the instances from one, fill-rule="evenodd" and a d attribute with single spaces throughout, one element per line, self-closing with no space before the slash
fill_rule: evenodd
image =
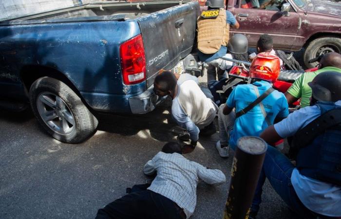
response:
<path id="1" fill-rule="evenodd" d="M 333 128 L 341 124 L 341 109 L 329 110 L 317 117 L 311 123 L 299 130 L 293 138 L 293 146 L 303 148 L 308 146 L 318 135 L 326 129 Z"/>

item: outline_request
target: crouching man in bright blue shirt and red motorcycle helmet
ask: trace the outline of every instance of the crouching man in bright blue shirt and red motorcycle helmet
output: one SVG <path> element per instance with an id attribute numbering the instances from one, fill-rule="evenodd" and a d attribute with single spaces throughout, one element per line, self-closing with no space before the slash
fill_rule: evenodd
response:
<path id="1" fill-rule="evenodd" d="M 235 150 L 236 142 L 243 136 L 259 136 L 260 133 L 276 121 L 288 115 L 288 104 L 283 93 L 272 89 L 272 83 L 279 75 L 277 56 L 259 54 L 256 58 L 270 57 L 277 69 L 272 71 L 262 65 L 251 65 L 250 75 L 253 84 L 238 85 L 229 95 L 226 104 L 219 108 L 219 139 L 216 148 L 221 157 L 228 157 L 229 146 Z M 246 111 L 246 107 L 260 95 L 270 92 L 265 99 Z M 241 113 L 244 110 L 244 114 Z M 237 114 L 237 118 L 236 118 Z M 240 116 L 239 116 L 240 115 Z M 238 117 L 239 116 L 239 117 Z"/>

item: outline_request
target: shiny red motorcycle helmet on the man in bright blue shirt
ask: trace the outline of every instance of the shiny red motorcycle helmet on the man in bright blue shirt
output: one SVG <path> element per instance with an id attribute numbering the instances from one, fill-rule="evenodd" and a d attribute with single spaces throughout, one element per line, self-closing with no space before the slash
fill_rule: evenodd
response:
<path id="1" fill-rule="evenodd" d="M 262 79 L 275 83 L 280 75 L 280 58 L 269 53 L 260 53 L 252 61 L 250 66 L 251 78 Z"/>

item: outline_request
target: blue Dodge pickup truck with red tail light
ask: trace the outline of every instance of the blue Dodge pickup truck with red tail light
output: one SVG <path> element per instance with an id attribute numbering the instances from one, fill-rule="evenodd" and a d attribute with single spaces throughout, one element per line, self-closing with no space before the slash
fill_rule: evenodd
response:
<path id="1" fill-rule="evenodd" d="M 198 2 L 102 2 L 0 22 L 0 106 L 31 108 L 55 139 L 93 135 L 99 111 L 147 113 L 160 70 L 196 65 Z"/>

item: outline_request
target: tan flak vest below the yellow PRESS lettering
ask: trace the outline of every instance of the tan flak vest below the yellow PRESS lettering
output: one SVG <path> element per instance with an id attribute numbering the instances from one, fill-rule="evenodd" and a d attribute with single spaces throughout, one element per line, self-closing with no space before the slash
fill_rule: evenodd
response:
<path id="1" fill-rule="evenodd" d="M 208 12 L 203 11 L 203 13 Z M 204 18 L 202 15 L 197 20 L 198 49 L 202 53 L 213 54 L 218 52 L 222 45 L 227 46 L 229 24 L 226 22 L 226 11 L 219 9 L 219 15 L 216 18 Z"/>

